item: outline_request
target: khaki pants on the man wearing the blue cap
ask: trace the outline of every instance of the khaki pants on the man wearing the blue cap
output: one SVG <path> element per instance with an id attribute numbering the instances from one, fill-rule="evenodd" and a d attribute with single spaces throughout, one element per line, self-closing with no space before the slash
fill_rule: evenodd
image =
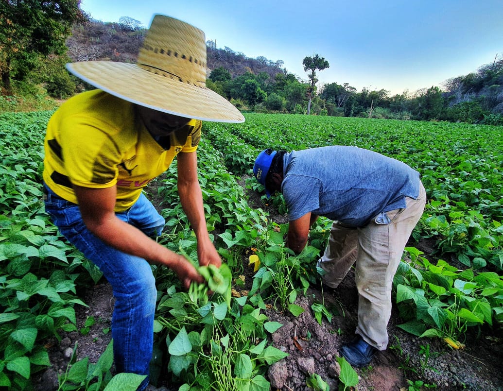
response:
<path id="1" fill-rule="evenodd" d="M 325 253 L 318 262 L 326 272 L 323 283 L 333 288 L 355 264 L 359 296 L 356 333 L 378 350 L 388 345 L 386 327 L 391 316 L 393 276 L 425 204 L 426 192 L 421 184 L 417 200 L 407 197 L 405 209 L 386 213 L 389 224 L 372 221 L 363 228 L 346 228 L 333 222 Z"/>

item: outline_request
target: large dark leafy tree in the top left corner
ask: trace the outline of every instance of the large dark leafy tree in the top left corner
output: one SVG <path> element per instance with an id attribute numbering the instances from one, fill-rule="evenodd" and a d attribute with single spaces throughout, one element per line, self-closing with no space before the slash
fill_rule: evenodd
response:
<path id="1" fill-rule="evenodd" d="M 22 80 L 40 56 L 64 54 L 65 39 L 86 16 L 80 0 L 2 0 L 0 2 L 0 73 L 6 90 L 11 73 Z"/>

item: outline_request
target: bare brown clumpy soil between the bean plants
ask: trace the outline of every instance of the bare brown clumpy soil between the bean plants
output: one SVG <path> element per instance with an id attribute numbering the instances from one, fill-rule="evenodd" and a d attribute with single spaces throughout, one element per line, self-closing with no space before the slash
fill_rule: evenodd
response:
<path id="1" fill-rule="evenodd" d="M 244 178 L 240 182 L 244 185 Z M 155 204 L 154 191 L 151 192 Z M 269 218 L 279 224 L 285 223 L 286 217 L 263 205 L 259 194 L 246 190 L 249 205 L 262 208 L 269 213 Z M 432 242 L 411 243 L 429 256 L 434 253 Z M 253 270 L 248 273 L 253 276 Z M 274 308 L 266 310 L 270 321 L 283 326 L 272 335 L 272 343 L 289 355 L 273 364 L 267 373 L 271 389 L 281 391 L 304 391 L 306 377 L 316 373 L 326 381 L 330 390 L 339 389 L 338 377 L 340 366 L 336 357 L 341 346 L 354 336 L 357 325 L 358 294 L 350 272 L 337 289 L 310 287 L 305 296 L 299 295 L 296 304 L 304 312 L 294 317 L 289 313 Z M 249 279 L 249 278 L 247 278 Z M 333 318 L 330 323 L 323 318 L 319 325 L 313 316 L 311 305 L 314 301 L 322 302 L 329 309 Z M 88 317 L 95 318 L 95 324 L 86 335 L 80 332 L 63 333 L 61 342 L 48 341 L 49 357 L 52 366 L 40 372 L 36 377 L 36 391 L 49 391 L 58 388 L 58 374 L 64 373 L 75 344 L 77 359 L 88 356 L 90 362 L 96 362 L 111 339 L 109 332 L 114 299 L 112 289 L 106 282 L 96 284 L 86 292 L 83 301 L 89 308 L 76 306 L 77 328 L 84 327 Z M 435 388 L 445 391 L 454 390 L 503 390 L 503 335 L 499 331 L 482 331 L 479 334 L 470 331 L 465 342 L 466 347 L 454 350 L 442 340 L 417 338 L 397 327 L 401 323 L 397 310 L 393 307 L 388 325 L 390 342 L 387 350 L 378 352 L 370 366 L 358 369 L 358 390 L 408 390 Z M 497 335 L 495 335 L 497 334 Z M 421 346 L 430 348 L 429 355 L 420 354 Z M 409 388 L 408 381 L 421 380 L 423 388 Z M 436 386 L 434 386 L 436 385 Z M 169 385 L 168 385 L 169 386 Z M 167 391 L 165 385 L 151 389 Z M 341 388 L 342 389 L 342 388 Z"/>

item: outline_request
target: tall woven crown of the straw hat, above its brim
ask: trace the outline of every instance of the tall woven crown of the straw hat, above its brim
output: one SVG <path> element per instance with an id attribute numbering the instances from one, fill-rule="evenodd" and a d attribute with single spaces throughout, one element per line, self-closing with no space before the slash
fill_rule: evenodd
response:
<path id="1" fill-rule="evenodd" d="M 137 65 L 152 73 L 205 87 L 204 32 L 185 22 L 156 15 L 138 53 Z"/>

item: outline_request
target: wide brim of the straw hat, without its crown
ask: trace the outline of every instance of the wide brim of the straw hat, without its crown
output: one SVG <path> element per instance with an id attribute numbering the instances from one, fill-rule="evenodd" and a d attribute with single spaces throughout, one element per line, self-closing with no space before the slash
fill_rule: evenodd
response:
<path id="1" fill-rule="evenodd" d="M 207 88 L 149 72 L 136 64 L 83 61 L 66 64 L 80 79 L 125 101 L 202 121 L 241 123 L 243 115 Z"/>

